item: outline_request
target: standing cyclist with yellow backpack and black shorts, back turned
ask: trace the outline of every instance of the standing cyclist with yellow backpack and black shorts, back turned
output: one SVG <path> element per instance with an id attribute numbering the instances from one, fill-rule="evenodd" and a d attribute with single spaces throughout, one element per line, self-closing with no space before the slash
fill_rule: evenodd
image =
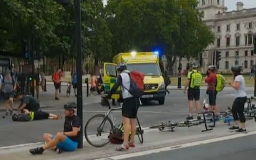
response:
<path id="1" fill-rule="evenodd" d="M 194 104 L 193 100 L 195 100 L 196 103 L 196 109 L 197 114 L 201 111 L 200 106 L 200 86 L 202 83 L 202 73 L 197 70 L 198 65 L 196 63 L 192 64 L 192 70 L 188 73 L 188 80 L 185 84 L 184 93 L 187 92 L 188 87 L 188 107 L 189 107 L 189 116 L 186 119 L 193 119 L 193 112 L 194 112 Z M 199 115 L 197 115 L 197 118 L 201 118 Z"/>

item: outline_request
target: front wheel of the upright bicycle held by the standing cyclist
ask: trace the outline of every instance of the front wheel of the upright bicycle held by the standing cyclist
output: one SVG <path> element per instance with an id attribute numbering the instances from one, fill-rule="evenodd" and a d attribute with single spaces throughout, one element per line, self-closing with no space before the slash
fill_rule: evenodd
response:
<path id="1" fill-rule="evenodd" d="M 110 131 L 113 123 L 105 115 L 95 115 L 91 117 L 85 127 L 84 134 L 87 142 L 94 147 L 103 147 L 110 141 Z"/>

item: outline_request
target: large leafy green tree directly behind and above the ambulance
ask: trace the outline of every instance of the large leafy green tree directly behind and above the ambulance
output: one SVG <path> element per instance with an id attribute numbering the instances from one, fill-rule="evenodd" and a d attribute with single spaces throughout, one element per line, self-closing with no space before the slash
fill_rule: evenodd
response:
<path id="1" fill-rule="evenodd" d="M 182 57 L 198 57 L 214 35 L 201 21 L 196 6 L 196 0 L 109 0 L 106 19 L 113 34 L 113 51 L 158 49 L 170 68 L 180 50 Z"/>

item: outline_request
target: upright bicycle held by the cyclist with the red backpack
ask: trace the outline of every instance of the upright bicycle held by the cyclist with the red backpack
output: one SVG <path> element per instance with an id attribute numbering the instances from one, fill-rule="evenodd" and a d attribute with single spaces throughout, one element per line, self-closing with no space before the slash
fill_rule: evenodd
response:
<path id="1" fill-rule="evenodd" d="M 111 108 L 109 100 L 106 97 L 102 97 L 103 100 L 107 102 L 108 111 L 103 114 L 98 114 L 92 116 L 86 123 L 84 128 L 85 138 L 87 142 L 94 147 L 103 147 L 106 146 L 110 141 L 110 134 L 113 132 L 117 127 L 114 124 L 114 118 L 111 114 L 114 110 L 121 110 L 122 109 L 122 103 L 120 107 L 117 108 Z M 95 122 L 99 119 L 99 124 L 95 125 Z M 139 119 L 137 117 L 137 131 L 136 134 L 138 135 L 140 143 L 143 143 L 143 129 L 140 125 Z M 96 131 L 94 134 L 90 134 L 90 126 L 92 125 L 92 130 Z M 122 125 L 122 124 L 121 124 Z M 97 129 L 95 128 L 97 127 Z M 99 140 L 99 143 L 97 143 L 97 139 Z"/>

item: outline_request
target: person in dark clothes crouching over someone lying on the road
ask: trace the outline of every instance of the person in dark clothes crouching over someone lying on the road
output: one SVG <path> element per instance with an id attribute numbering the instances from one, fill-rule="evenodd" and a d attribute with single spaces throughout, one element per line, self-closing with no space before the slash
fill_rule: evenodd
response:
<path id="1" fill-rule="evenodd" d="M 28 111 L 37 111 L 40 108 L 38 101 L 30 95 L 18 94 L 17 99 L 21 101 L 17 112 L 23 111 L 23 109 L 27 109 Z"/>

